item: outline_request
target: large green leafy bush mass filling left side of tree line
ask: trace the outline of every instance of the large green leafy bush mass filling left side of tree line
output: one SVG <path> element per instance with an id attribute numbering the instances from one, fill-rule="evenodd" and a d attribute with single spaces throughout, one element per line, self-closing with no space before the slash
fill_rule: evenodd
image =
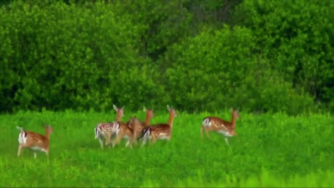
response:
<path id="1" fill-rule="evenodd" d="M 163 90 L 156 67 L 135 48 L 142 28 L 113 5 L 17 2 L 1 15 L 1 110 L 132 108 L 156 103 L 146 97 Z"/>

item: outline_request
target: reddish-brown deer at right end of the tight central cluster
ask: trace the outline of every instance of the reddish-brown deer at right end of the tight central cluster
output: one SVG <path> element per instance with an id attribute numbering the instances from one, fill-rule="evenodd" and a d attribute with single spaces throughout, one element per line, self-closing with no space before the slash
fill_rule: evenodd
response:
<path id="1" fill-rule="evenodd" d="M 177 114 L 173 107 L 167 105 L 167 109 L 170 112 L 168 124 L 155 124 L 145 129 L 143 133 L 144 136 L 142 146 L 146 144 L 147 139 L 150 139 L 150 145 L 156 142 L 156 140 L 168 139 L 169 141 L 171 141 L 173 120 L 175 117 L 177 117 Z"/>

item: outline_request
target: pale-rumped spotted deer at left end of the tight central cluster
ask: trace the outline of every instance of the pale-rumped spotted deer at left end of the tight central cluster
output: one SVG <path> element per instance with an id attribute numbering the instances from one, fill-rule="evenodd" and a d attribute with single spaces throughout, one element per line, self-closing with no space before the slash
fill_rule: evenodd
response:
<path id="1" fill-rule="evenodd" d="M 117 108 L 116 105 L 113 104 L 113 108 L 116 110 L 116 121 L 121 121 L 121 118 L 124 117 L 124 107 Z M 100 141 L 100 147 L 103 149 L 103 139 L 105 138 L 106 145 L 109 145 L 111 143 L 111 136 L 114 134 L 113 129 L 112 129 L 112 123 L 98 123 L 95 126 L 94 132 L 95 132 L 95 139 L 99 139 Z"/>

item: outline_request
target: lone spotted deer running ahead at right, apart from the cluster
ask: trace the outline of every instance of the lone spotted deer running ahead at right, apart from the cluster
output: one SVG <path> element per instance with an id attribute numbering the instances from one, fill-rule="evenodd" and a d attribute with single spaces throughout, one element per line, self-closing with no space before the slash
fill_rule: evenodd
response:
<path id="1" fill-rule="evenodd" d="M 219 134 L 222 134 L 225 137 L 226 144 L 228 143 L 228 137 L 237 136 L 238 141 L 240 142 L 238 134 L 235 132 L 235 122 L 236 119 L 239 118 L 238 109 L 233 110 L 230 109 L 232 112 L 232 120 L 231 122 L 225 121 L 218 117 L 205 117 L 202 122 L 202 126 L 200 128 L 200 137 L 203 139 L 203 129 L 205 130 L 206 136 L 210 139 L 210 136 L 208 134 L 209 131 L 214 131 Z"/>

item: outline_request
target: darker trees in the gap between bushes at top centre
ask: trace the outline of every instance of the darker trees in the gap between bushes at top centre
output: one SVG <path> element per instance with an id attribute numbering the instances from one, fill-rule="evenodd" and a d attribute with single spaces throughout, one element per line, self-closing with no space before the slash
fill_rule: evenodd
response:
<path id="1" fill-rule="evenodd" d="M 117 2 L 117 12 L 135 14 L 131 21 L 142 25 L 144 30 L 140 51 L 157 59 L 166 48 L 189 33 L 192 15 L 182 7 L 182 1 L 124 1 Z"/>

